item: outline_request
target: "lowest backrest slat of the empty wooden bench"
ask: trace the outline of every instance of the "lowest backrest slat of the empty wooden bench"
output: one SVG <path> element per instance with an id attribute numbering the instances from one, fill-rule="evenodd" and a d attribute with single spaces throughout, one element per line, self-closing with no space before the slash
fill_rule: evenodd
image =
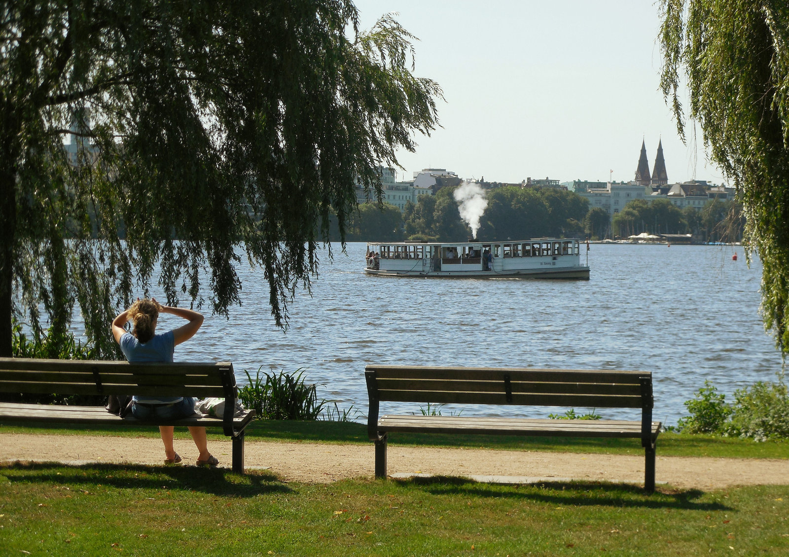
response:
<path id="1" fill-rule="evenodd" d="M 377 391 L 378 400 L 391 402 L 436 402 L 439 404 L 496 404 L 507 406 L 588 406 L 591 408 L 641 408 L 640 396 L 604 394 L 522 394 L 454 391 Z"/>

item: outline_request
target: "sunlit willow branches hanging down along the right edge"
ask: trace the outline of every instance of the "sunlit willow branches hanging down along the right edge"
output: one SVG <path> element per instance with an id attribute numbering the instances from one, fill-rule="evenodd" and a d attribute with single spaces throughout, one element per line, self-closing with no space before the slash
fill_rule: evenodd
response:
<path id="1" fill-rule="evenodd" d="M 661 86 L 684 139 L 697 121 L 735 185 L 744 241 L 763 264 L 765 327 L 789 353 L 789 5 L 663 0 Z M 687 112 L 679 92 L 686 83 Z"/>

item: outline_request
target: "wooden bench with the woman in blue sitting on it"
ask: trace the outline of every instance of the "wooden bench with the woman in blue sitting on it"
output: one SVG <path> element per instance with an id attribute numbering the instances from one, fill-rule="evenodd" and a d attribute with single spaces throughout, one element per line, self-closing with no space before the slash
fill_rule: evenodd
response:
<path id="1" fill-rule="evenodd" d="M 159 395 L 225 398 L 221 418 L 195 414 L 170 421 L 137 420 L 103 406 L 60 406 L 0 402 L 0 424 L 199 425 L 221 427 L 233 440 L 233 471 L 244 473 L 244 430 L 255 410 L 234 416 L 237 398 L 233 364 L 129 364 L 126 361 L 0 358 L 0 392 L 34 394 Z"/>

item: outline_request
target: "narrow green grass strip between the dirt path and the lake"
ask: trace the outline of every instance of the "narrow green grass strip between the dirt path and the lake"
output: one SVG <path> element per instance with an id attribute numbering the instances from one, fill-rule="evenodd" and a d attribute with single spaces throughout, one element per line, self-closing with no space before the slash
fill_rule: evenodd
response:
<path id="1" fill-rule="evenodd" d="M 367 426 L 336 421 L 255 421 L 247 428 L 250 441 L 308 441 L 316 443 L 368 444 Z M 209 438 L 226 439 L 219 428 L 209 428 Z M 0 424 L 0 433 L 50 433 L 62 435 L 147 436 L 157 438 L 156 428 L 107 427 L 84 428 L 73 425 L 60 427 L 19 427 Z M 176 436 L 187 438 L 185 428 L 176 428 Z M 553 452 L 585 452 L 601 454 L 643 454 L 638 439 L 575 439 L 561 437 L 517 436 L 454 436 L 426 434 L 393 434 L 392 445 L 436 447 L 485 447 L 500 450 L 548 450 Z M 789 458 L 789 442 L 728 438 L 706 435 L 664 433 L 657 439 L 658 456 L 715 458 Z"/>

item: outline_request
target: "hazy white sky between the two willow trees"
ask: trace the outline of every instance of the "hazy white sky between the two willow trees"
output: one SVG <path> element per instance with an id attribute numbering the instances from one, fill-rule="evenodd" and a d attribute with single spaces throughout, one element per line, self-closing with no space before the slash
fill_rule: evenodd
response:
<path id="1" fill-rule="evenodd" d="M 670 183 L 724 180 L 686 147 L 660 92 L 659 4 L 651 0 L 355 0 L 361 28 L 383 13 L 417 36 L 416 70 L 443 88 L 443 129 L 398 159 L 410 178 L 627 181 L 641 140 L 653 170 L 663 141 Z M 684 103 L 686 104 L 686 103 Z M 609 174 L 609 170 L 613 170 Z"/>

